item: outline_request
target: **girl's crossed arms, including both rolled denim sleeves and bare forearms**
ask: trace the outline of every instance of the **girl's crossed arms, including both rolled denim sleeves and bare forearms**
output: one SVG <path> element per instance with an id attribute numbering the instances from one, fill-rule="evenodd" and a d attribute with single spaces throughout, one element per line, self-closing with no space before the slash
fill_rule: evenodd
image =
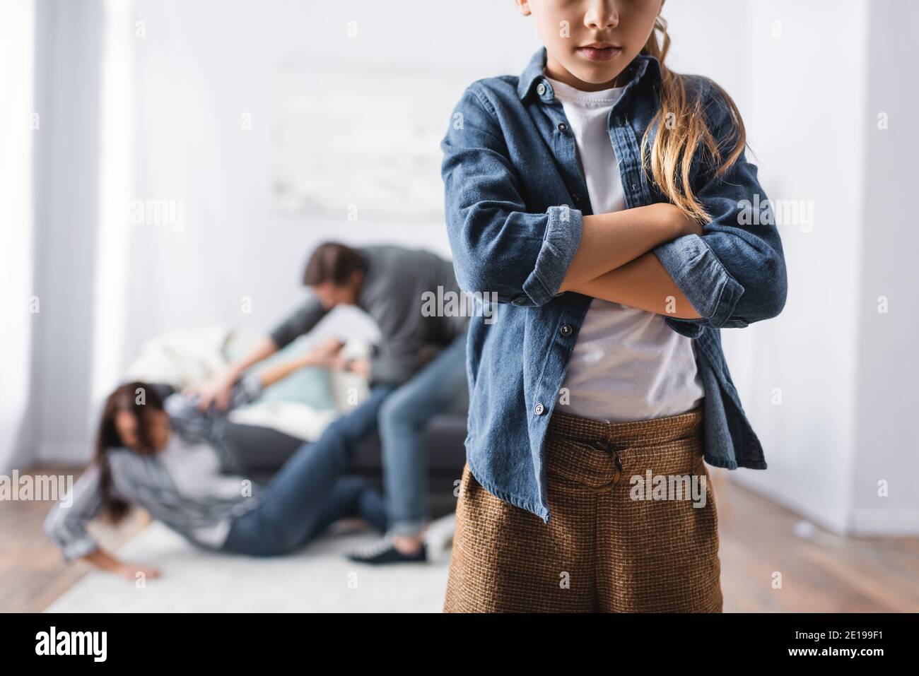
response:
<path id="1" fill-rule="evenodd" d="M 712 136 L 719 147 L 731 147 L 736 119 L 723 94 L 704 79 L 692 82 L 700 86 Z M 782 245 L 756 167 L 743 152 L 720 169 L 704 152 L 696 158 L 693 193 L 710 215 L 704 232 L 685 222 L 681 231 L 682 214 L 676 219 L 671 205 L 596 216 L 565 204 L 540 212 L 526 198 L 536 188 L 511 157 L 494 96 L 471 85 L 454 109 L 462 123 L 451 122 L 441 142 L 460 287 L 521 307 L 574 291 L 667 315 L 675 331 L 690 337 L 782 310 L 788 289 Z M 552 188 L 563 202 L 564 187 L 556 181 Z M 666 218 L 651 218 L 653 209 Z"/>

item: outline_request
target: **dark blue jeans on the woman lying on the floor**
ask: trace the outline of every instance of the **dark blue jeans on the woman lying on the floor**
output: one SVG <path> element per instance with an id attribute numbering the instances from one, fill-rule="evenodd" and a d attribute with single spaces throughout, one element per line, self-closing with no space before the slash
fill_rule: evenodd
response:
<path id="1" fill-rule="evenodd" d="M 380 405 L 391 391 L 390 386 L 373 388 L 368 400 L 290 456 L 258 506 L 233 522 L 223 549 L 255 557 L 289 554 L 349 516 L 385 530 L 380 493 L 364 479 L 344 475 L 357 444 L 376 430 Z"/>

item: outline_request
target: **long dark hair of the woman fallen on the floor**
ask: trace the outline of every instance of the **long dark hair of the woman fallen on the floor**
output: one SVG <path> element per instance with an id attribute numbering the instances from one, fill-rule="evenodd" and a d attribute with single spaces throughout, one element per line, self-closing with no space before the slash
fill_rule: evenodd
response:
<path id="1" fill-rule="evenodd" d="M 95 461 L 100 473 L 99 489 L 102 492 L 103 510 L 114 524 L 123 519 L 130 509 L 127 502 L 112 494 L 111 467 L 108 464 L 108 451 L 125 445 L 115 426 L 115 417 L 119 411 L 130 412 L 137 420 L 140 446 L 132 450 L 142 455 L 153 455 L 156 450 L 150 438 L 150 423 L 153 411 L 163 411 L 163 398 L 150 385 L 134 381 L 125 383 L 109 394 L 102 407 L 102 419 L 96 434 Z"/>

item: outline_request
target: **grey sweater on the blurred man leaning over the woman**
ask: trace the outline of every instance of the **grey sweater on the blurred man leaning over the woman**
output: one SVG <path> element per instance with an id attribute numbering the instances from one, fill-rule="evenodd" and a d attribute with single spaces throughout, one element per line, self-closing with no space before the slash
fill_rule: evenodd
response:
<path id="1" fill-rule="evenodd" d="M 432 315 L 424 310 L 425 298 L 429 298 L 425 292 L 440 298 L 451 293 L 459 296 L 453 264 L 437 254 L 399 246 L 367 246 L 357 251 L 367 262 L 357 307 L 380 327 L 370 381 L 401 385 L 427 357 L 465 335 L 469 327 L 469 317 L 459 312 L 443 316 L 447 312 Z M 327 312 L 311 292 L 301 308 L 271 332 L 271 339 L 278 349 L 284 347 L 309 332 Z"/>

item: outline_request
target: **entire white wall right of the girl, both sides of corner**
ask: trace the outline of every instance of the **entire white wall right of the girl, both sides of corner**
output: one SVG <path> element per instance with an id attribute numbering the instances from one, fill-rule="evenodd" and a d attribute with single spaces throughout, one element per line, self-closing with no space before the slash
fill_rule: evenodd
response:
<path id="1" fill-rule="evenodd" d="M 789 266 L 782 315 L 722 332 L 769 464 L 733 477 L 837 532 L 917 534 L 919 301 L 910 256 L 919 231 L 904 197 L 919 130 L 908 121 L 916 95 L 904 84 L 919 7 L 759 0 L 720 8 L 717 49 L 686 54 L 685 70 L 712 75 L 734 96 L 768 196 L 814 209 L 812 229 L 780 226 Z M 674 32 L 697 9 L 668 5 Z M 882 111 L 890 130 L 877 127 Z M 891 299 L 886 314 L 882 295 Z M 889 497 L 879 497 L 879 481 L 890 484 Z"/>

